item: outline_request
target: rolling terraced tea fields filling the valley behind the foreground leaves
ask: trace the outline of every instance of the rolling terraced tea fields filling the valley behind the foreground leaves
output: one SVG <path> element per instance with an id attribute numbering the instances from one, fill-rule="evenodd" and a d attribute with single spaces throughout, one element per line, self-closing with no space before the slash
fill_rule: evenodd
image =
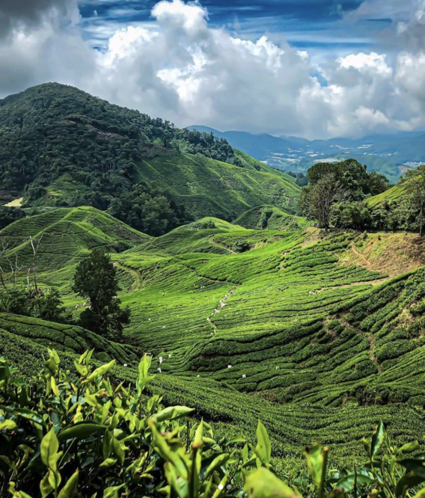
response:
<path id="1" fill-rule="evenodd" d="M 130 380 L 149 353 L 157 371 L 151 393 L 195 408 L 219 434 L 254 438 L 260 418 L 273 454 L 295 461 L 317 439 L 331 446 L 331 461 L 352 458 L 380 420 L 397 441 L 425 443 L 421 264 L 390 277 L 385 264 L 380 271 L 362 264 L 355 234 L 260 230 L 242 221 L 205 218 L 155 239 L 93 208 L 15 222 L 0 240 L 20 243 L 0 262 L 30 259 L 29 236 L 44 234 L 40 285 L 57 286 L 77 316 L 85 303 L 71 291 L 75 265 L 103 246 L 132 319 L 127 344 L 114 344 L 75 326 L 2 313 L 0 355 L 25 371 L 42 348 L 69 358 L 94 348 L 98 361 L 117 359 L 114 376 Z M 129 249 L 118 252 L 120 241 Z"/>

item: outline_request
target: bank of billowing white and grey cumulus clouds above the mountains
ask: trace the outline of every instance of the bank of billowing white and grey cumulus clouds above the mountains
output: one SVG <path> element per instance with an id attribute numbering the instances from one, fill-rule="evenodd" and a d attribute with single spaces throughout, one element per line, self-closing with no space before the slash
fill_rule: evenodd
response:
<path id="1" fill-rule="evenodd" d="M 160 1 L 150 27 L 119 29 L 99 52 L 83 40 L 70 1 L 44 0 L 37 23 L 16 24 L 0 42 L 0 94 L 60 81 L 180 126 L 310 138 L 425 124 L 422 52 L 395 62 L 361 52 L 317 67 L 284 40 L 211 28 L 204 7 L 181 0 Z"/>

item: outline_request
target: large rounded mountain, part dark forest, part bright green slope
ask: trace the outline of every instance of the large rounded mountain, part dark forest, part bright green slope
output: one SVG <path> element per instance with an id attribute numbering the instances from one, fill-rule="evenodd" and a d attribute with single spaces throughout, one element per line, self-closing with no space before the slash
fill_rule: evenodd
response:
<path id="1" fill-rule="evenodd" d="M 91 205 L 155 235 L 262 203 L 295 209 L 299 193 L 226 140 L 55 83 L 0 100 L 0 145 L 1 203 Z"/>

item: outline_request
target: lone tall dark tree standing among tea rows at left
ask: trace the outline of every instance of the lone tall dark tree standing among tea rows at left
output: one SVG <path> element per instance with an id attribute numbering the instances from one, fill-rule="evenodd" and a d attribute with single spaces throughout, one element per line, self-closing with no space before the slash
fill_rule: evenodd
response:
<path id="1" fill-rule="evenodd" d="M 121 335 L 130 322 L 130 308 L 121 309 L 117 270 L 103 249 L 93 249 L 77 266 L 72 290 L 88 298 L 90 307 L 80 315 L 82 327 L 99 334 Z"/>

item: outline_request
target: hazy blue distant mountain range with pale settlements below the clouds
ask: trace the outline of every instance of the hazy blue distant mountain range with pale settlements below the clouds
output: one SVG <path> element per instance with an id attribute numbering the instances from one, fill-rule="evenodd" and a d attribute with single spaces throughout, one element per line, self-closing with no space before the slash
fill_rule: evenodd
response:
<path id="1" fill-rule="evenodd" d="M 188 128 L 212 131 L 215 136 L 225 138 L 232 147 L 283 171 L 305 172 L 315 161 L 352 157 L 366 164 L 369 171 L 379 171 L 395 183 L 407 169 L 425 162 L 424 131 L 310 141 L 295 136 L 280 138 L 245 131 L 218 131 L 201 125 Z"/>

